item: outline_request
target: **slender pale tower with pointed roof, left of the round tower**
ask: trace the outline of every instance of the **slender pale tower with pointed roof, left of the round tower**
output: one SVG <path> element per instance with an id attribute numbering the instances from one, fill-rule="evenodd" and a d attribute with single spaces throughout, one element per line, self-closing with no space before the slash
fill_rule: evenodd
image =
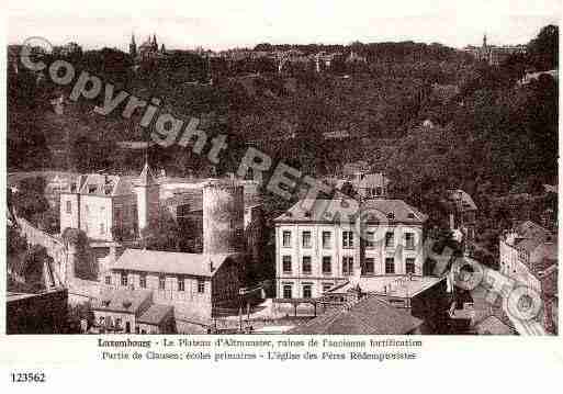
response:
<path id="1" fill-rule="evenodd" d="M 160 199 L 160 187 L 146 161 L 134 190 L 137 194 L 138 234 L 142 234 L 143 229 L 158 219 Z"/>

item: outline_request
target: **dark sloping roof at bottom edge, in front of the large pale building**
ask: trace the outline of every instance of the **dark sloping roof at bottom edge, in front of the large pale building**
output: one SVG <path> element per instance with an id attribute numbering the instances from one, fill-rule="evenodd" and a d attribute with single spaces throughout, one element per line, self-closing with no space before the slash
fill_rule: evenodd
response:
<path id="1" fill-rule="evenodd" d="M 406 309 L 396 308 L 376 296 L 353 305 L 329 311 L 299 325 L 288 334 L 319 335 L 404 335 L 414 331 L 423 320 Z"/>

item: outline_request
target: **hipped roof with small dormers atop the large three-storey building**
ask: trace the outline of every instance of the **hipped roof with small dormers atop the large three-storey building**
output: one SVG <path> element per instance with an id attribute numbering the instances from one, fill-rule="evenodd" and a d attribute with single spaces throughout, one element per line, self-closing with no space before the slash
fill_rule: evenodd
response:
<path id="1" fill-rule="evenodd" d="M 354 207 L 359 207 L 359 210 Z M 308 209 L 308 210 L 307 210 Z M 354 212 L 354 210 L 357 212 Z M 423 224 L 428 218 L 415 207 L 402 200 L 374 199 L 358 202 L 352 199 L 301 200 L 284 214 L 278 216 L 278 223 L 342 223 L 353 222 L 358 214 L 367 215 L 368 222 L 383 224 Z"/>

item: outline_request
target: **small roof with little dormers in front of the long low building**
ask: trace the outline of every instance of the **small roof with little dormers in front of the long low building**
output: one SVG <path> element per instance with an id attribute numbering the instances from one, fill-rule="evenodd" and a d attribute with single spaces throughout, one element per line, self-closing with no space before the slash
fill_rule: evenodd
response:
<path id="1" fill-rule="evenodd" d="M 150 302 L 148 290 L 102 289 L 100 296 L 92 301 L 92 309 L 138 314 L 142 306 Z"/>

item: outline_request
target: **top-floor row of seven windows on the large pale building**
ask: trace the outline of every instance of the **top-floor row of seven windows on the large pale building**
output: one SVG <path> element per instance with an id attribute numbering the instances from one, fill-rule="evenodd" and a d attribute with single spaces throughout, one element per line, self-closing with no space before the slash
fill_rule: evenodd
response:
<path id="1" fill-rule="evenodd" d="M 302 243 L 301 246 L 305 249 L 312 248 L 312 234 L 306 230 L 301 234 Z M 333 247 L 333 233 L 331 232 L 323 232 L 322 233 L 322 243 L 323 249 L 330 249 Z M 342 232 L 342 248 L 353 248 L 353 232 Z M 291 230 L 283 230 L 282 233 L 282 246 L 284 248 L 291 248 Z M 395 246 L 395 234 L 393 232 L 385 233 L 385 247 L 392 248 Z M 375 247 L 375 233 L 367 232 L 365 233 L 365 247 L 374 248 Z M 414 250 L 415 249 L 415 234 L 414 233 L 405 233 L 405 248 Z"/>

